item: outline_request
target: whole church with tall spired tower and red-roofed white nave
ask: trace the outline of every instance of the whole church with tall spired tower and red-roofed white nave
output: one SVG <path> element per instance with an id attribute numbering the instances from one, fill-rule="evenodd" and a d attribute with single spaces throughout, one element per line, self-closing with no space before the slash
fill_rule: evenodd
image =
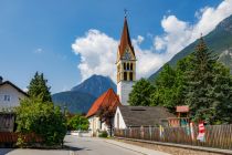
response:
<path id="1" fill-rule="evenodd" d="M 117 94 L 109 89 L 103 93 L 88 110 L 86 117 L 89 122 L 92 136 L 97 136 L 98 131 L 108 128 L 108 126 L 105 123 L 102 123 L 99 120 L 98 111 L 101 110 L 101 106 L 110 106 L 116 111 L 117 106 L 119 105 L 128 105 L 129 93 L 133 90 L 133 84 L 136 81 L 136 55 L 130 41 L 126 16 L 124 19 L 120 42 L 117 53 L 115 54 L 117 54 Z"/>

